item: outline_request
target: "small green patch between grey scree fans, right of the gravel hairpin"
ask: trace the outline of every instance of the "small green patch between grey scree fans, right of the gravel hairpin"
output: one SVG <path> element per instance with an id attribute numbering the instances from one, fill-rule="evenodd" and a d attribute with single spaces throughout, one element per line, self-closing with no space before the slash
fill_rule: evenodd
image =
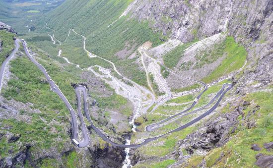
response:
<path id="1" fill-rule="evenodd" d="M 166 55 L 163 56 L 164 64 L 168 68 L 173 68 L 177 65 L 178 61 L 180 60 L 181 56 L 184 55 L 185 49 L 190 47 L 196 41 L 182 44 L 174 48 L 173 50 L 169 51 Z"/>

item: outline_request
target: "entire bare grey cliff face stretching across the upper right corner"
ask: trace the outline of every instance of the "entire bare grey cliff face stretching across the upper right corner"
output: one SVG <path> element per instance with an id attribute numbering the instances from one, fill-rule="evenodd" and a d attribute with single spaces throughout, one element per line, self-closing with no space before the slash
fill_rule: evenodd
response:
<path id="1" fill-rule="evenodd" d="M 123 15 L 151 20 L 156 30 L 182 42 L 227 31 L 263 57 L 272 54 L 272 10 L 271 0 L 135 0 Z"/>

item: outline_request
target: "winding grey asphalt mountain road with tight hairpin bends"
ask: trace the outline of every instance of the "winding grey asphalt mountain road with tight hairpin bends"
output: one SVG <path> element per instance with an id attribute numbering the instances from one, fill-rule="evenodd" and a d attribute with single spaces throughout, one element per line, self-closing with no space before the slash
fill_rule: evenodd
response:
<path id="1" fill-rule="evenodd" d="M 39 64 L 28 52 L 27 50 L 27 43 L 23 40 L 23 39 L 17 39 L 15 40 L 15 49 L 13 50 L 13 52 L 11 53 L 10 56 L 7 57 L 7 59 L 3 62 L 2 66 L 1 66 L 1 71 L 0 71 L 0 83 L 2 83 L 2 76 L 3 76 L 3 71 L 4 71 L 4 67 L 6 65 L 6 63 L 8 62 L 8 60 L 10 60 L 10 58 L 12 56 L 14 56 L 14 54 L 18 51 L 18 48 L 19 48 L 19 42 L 22 42 L 23 43 L 23 48 L 24 48 L 24 51 L 26 53 L 26 55 L 28 56 L 28 58 L 43 72 L 43 74 L 45 75 L 46 79 L 48 80 L 49 84 L 50 84 L 50 87 L 51 89 L 57 93 L 59 95 L 59 97 L 63 100 L 63 102 L 65 103 L 65 105 L 67 106 L 68 110 L 70 111 L 70 114 L 71 114 L 71 118 L 72 118 L 72 136 L 71 136 L 71 139 L 77 139 L 78 138 L 78 133 L 77 133 L 77 122 L 76 122 L 76 115 L 75 115 L 75 112 L 72 108 L 72 106 L 69 104 L 67 98 L 64 96 L 64 94 L 62 93 L 62 91 L 59 89 L 59 87 L 55 84 L 55 82 L 51 79 L 51 77 L 49 76 L 49 74 L 46 72 L 45 68 Z M 102 58 L 104 59 L 104 58 Z M 104 59 L 104 60 L 107 60 L 107 59 Z M 109 60 L 107 60 L 108 62 L 110 62 L 113 66 L 114 66 L 114 69 L 115 71 L 120 74 L 116 67 L 115 67 L 115 64 Z M 164 65 L 163 65 L 164 66 Z M 3 68 L 3 69 L 2 69 Z M 168 71 L 170 71 L 171 73 L 174 73 L 175 75 L 178 75 L 180 77 L 183 77 L 183 78 L 186 78 L 186 79 L 189 79 L 189 80 L 192 80 L 192 81 L 195 81 L 195 82 L 198 82 L 198 83 L 201 83 L 203 86 L 205 86 L 205 89 L 197 96 L 196 100 L 194 101 L 194 103 L 191 105 L 190 108 L 188 108 L 187 110 L 183 111 L 183 112 L 180 112 L 180 113 L 177 113 L 171 117 L 168 117 L 158 123 L 155 123 L 155 124 L 152 124 L 152 125 L 149 125 L 146 127 L 146 130 L 147 131 L 152 131 L 152 128 L 155 127 L 156 125 L 160 125 L 164 122 L 167 122 L 171 119 L 175 119 L 179 116 L 181 116 L 181 114 L 184 114 L 185 112 L 188 112 L 190 111 L 197 103 L 197 100 L 202 96 L 202 94 L 207 90 L 207 86 L 205 83 L 201 82 L 201 81 L 197 81 L 197 80 L 194 80 L 194 79 L 190 79 L 190 78 L 187 78 L 187 77 L 184 77 L 184 76 L 181 76 L 175 72 L 172 72 L 171 70 L 169 70 L 168 68 L 166 68 Z M 120 74 L 121 75 L 121 74 Z M 121 75 L 122 76 L 122 75 Z M 127 79 L 127 78 L 126 78 Z M 130 79 L 128 79 L 129 81 L 131 81 Z M 132 81 L 132 83 L 134 83 L 135 85 L 138 85 L 136 84 L 135 82 Z M 139 86 L 139 85 L 138 85 Z M 142 86 L 139 86 L 141 88 L 143 88 Z M 226 88 L 227 87 L 227 88 Z M 172 132 L 176 132 L 176 131 L 180 131 L 196 122 L 198 122 L 199 120 L 201 120 L 202 118 L 204 118 L 205 116 L 207 116 L 208 114 L 210 114 L 211 112 L 213 112 L 214 109 L 216 109 L 216 107 L 219 105 L 220 101 L 222 100 L 222 98 L 224 97 L 225 93 L 228 92 L 233 86 L 231 84 L 228 84 L 228 83 L 225 83 L 222 88 L 219 90 L 219 92 L 214 96 L 214 98 L 207 104 L 205 105 L 204 107 L 200 108 L 200 109 L 197 109 L 195 111 L 192 111 L 192 112 L 189 112 L 189 113 L 193 113 L 193 112 L 197 112 L 197 111 L 200 111 L 202 109 L 204 109 L 206 106 L 209 106 L 212 102 L 214 102 L 218 97 L 218 100 L 217 102 L 214 104 L 214 106 L 212 108 L 210 108 L 208 111 L 204 112 L 203 114 L 201 114 L 200 116 L 198 116 L 197 118 L 193 119 L 192 121 L 172 130 L 172 131 L 169 131 L 165 134 L 162 134 L 160 136 L 156 136 L 156 137 L 152 137 L 152 138 L 147 138 L 147 139 L 144 139 L 144 141 L 140 144 L 136 144 L 136 145 L 124 145 L 124 144 L 116 144 L 114 143 L 113 141 L 111 141 L 107 136 L 105 136 L 96 126 L 94 126 L 91 118 L 90 118 L 90 115 L 89 115 L 89 112 L 88 112 L 88 106 L 87 106 L 87 89 L 84 87 L 84 86 L 77 86 L 75 87 L 75 93 L 76 93 L 76 96 L 77 96 L 77 108 L 78 108 L 78 115 L 79 115 L 79 118 L 81 120 L 81 128 L 82 128 L 82 134 L 83 134 L 83 138 L 84 140 L 79 142 L 79 147 L 86 147 L 88 144 L 89 144 L 89 136 L 88 136 L 88 132 L 87 132 L 87 128 L 86 128 L 86 125 L 84 123 L 84 120 L 83 120 L 83 116 L 82 116 L 82 113 L 81 113 L 81 96 L 80 96 L 80 92 L 82 91 L 82 95 L 83 95 L 83 106 L 84 106 L 84 114 L 86 116 L 86 118 L 88 119 L 91 127 L 95 130 L 95 132 L 106 142 L 110 143 L 111 145 L 115 146 L 115 147 L 120 147 L 120 148 L 138 148 L 144 144 L 147 144 L 148 142 L 151 142 L 151 141 L 154 141 L 160 137 L 163 137 L 169 133 L 172 133 Z M 146 89 L 146 88 L 144 88 Z M 147 90 L 147 89 L 146 89 Z M 149 106 L 151 107 L 151 106 Z M 186 113 L 186 114 L 189 114 L 189 113 Z M 184 115 L 186 115 L 184 114 Z"/>

